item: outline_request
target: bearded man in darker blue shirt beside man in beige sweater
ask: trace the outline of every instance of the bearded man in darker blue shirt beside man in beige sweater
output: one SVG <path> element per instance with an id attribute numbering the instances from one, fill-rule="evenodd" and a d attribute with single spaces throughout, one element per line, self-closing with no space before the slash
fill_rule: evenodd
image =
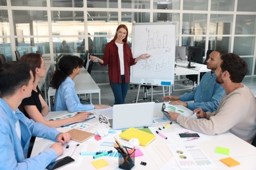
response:
<path id="1" fill-rule="evenodd" d="M 203 75 L 200 84 L 194 90 L 180 96 L 167 95 L 163 97 L 163 100 L 169 100 L 171 105 L 183 105 L 190 110 L 197 108 L 202 108 L 205 112 L 217 110 L 224 95 L 224 89 L 221 84 L 216 82 L 215 69 L 217 69 L 217 65 L 221 61 L 220 56 L 223 53 L 221 50 L 211 52 L 207 59 L 207 69 L 211 69 L 211 71 Z"/>

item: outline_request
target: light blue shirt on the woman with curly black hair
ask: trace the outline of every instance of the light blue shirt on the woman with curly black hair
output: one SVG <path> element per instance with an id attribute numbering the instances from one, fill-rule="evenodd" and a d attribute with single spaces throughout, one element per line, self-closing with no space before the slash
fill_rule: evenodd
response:
<path id="1" fill-rule="evenodd" d="M 95 109 L 94 105 L 81 104 L 75 93 L 75 82 L 67 76 L 60 84 L 55 94 L 54 110 L 68 110 L 69 112 L 87 111 Z"/>

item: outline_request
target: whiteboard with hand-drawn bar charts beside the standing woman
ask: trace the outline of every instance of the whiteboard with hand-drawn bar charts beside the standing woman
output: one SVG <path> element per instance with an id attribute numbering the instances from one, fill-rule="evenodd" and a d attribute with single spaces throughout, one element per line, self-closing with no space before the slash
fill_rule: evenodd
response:
<path id="1" fill-rule="evenodd" d="M 131 84 L 171 86 L 174 83 L 175 23 L 133 24 L 133 58 L 150 54 L 131 67 Z"/>

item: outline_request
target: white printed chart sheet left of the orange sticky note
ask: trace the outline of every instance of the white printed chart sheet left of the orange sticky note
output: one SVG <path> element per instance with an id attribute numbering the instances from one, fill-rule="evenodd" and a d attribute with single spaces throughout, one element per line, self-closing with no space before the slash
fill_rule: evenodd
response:
<path id="1" fill-rule="evenodd" d="M 215 167 L 198 145 L 168 144 L 168 147 L 180 168 Z"/>

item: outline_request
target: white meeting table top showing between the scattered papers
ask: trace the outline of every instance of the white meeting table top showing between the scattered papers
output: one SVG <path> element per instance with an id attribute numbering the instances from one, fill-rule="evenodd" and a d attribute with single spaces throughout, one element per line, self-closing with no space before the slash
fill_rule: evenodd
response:
<path id="1" fill-rule="evenodd" d="M 181 133 L 181 131 L 183 131 L 184 133 L 188 130 L 182 128 L 181 126 L 179 126 L 179 124 L 172 124 L 166 129 L 161 130 L 161 133 L 165 134 L 168 137 L 167 140 L 160 137 L 160 135 L 157 135 L 155 133 L 156 129 L 158 129 L 158 127 L 160 126 L 163 126 L 163 124 L 167 124 L 167 122 L 161 122 L 161 117 L 163 116 L 163 113 L 161 112 L 161 105 L 162 103 L 156 103 L 154 110 L 154 124 L 152 125 L 152 127 L 149 127 L 154 135 L 156 135 L 156 139 L 152 141 L 152 143 L 148 144 L 148 146 L 139 146 L 139 149 L 143 153 L 143 156 L 135 158 L 135 167 L 133 169 L 179 169 L 179 166 L 177 165 L 175 158 L 170 151 L 170 146 L 172 148 L 177 145 L 177 142 L 175 142 L 177 139 L 173 138 L 173 134 Z M 188 110 L 184 107 L 181 108 L 184 110 Z M 95 112 L 95 116 L 97 114 L 106 115 L 103 114 L 104 111 L 107 110 L 92 110 L 92 112 Z M 49 115 L 47 115 L 46 118 L 54 119 L 66 114 L 68 114 L 67 111 L 49 112 Z M 91 124 L 91 126 L 88 126 L 89 124 Z M 108 124 L 100 123 L 97 116 L 96 118 L 87 120 L 82 123 L 72 124 L 67 127 L 59 127 L 57 129 L 58 131 L 66 132 L 72 128 L 82 130 L 84 129 L 85 131 L 90 131 L 93 133 L 96 133 L 98 129 L 110 129 L 110 127 L 108 127 Z M 125 141 L 118 136 L 119 133 L 121 133 L 121 131 L 114 131 L 110 129 L 108 135 L 106 137 L 102 137 L 100 141 L 96 141 L 95 137 L 91 137 L 84 143 L 79 143 L 79 146 L 76 146 L 77 142 L 70 141 L 69 144 L 72 152 L 68 152 L 65 150 L 64 156 L 72 156 L 72 158 L 75 159 L 75 162 L 62 167 L 61 169 L 95 169 L 91 162 L 95 160 L 100 160 L 102 158 L 109 163 L 108 166 L 102 169 L 118 169 L 117 156 L 103 156 L 94 160 L 93 156 L 80 156 L 79 152 L 97 152 L 98 150 L 108 150 L 108 145 L 113 145 L 112 143 L 114 143 L 114 137 L 116 137 L 121 144 L 129 146 L 128 141 Z M 179 143 L 182 143 L 184 145 L 187 144 L 188 146 L 195 144 L 202 149 L 202 152 L 206 154 L 207 158 L 209 158 L 209 160 L 213 162 L 213 165 L 211 167 L 204 167 L 204 169 L 230 169 L 230 167 L 220 161 L 221 159 L 227 157 L 232 157 L 234 158 L 234 160 L 240 162 L 240 165 L 232 167 L 232 169 L 255 169 L 256 148 L 251 144 L 246 143 L 242 139 L 228 132 L 221 135 L 203 135 L 202 133 L 199 134 L 200 140 L 202 139 L 201 141 L 195 140 L 194 142 L 190 141 L 190 143 L 185 143 L 186 141 L 179 141 Z M 51 146 L 51 144 L 53 144 L 53 141 L 37 137 L 33 146 L 32 156 L 35 156 L 42 150 L 45 150 L 46 148 Z M 75 147 L 72 148 L 72 146 Z M 217 146 L 229 148 L 230 154 L 226 156 L 223 154 L 215 153 L 215 148 Z M 113 152 L 116 152 L 116 150 L 113 149 Z M 146 166 L 140 165 L 141 161 L 146 162 Z"/>

